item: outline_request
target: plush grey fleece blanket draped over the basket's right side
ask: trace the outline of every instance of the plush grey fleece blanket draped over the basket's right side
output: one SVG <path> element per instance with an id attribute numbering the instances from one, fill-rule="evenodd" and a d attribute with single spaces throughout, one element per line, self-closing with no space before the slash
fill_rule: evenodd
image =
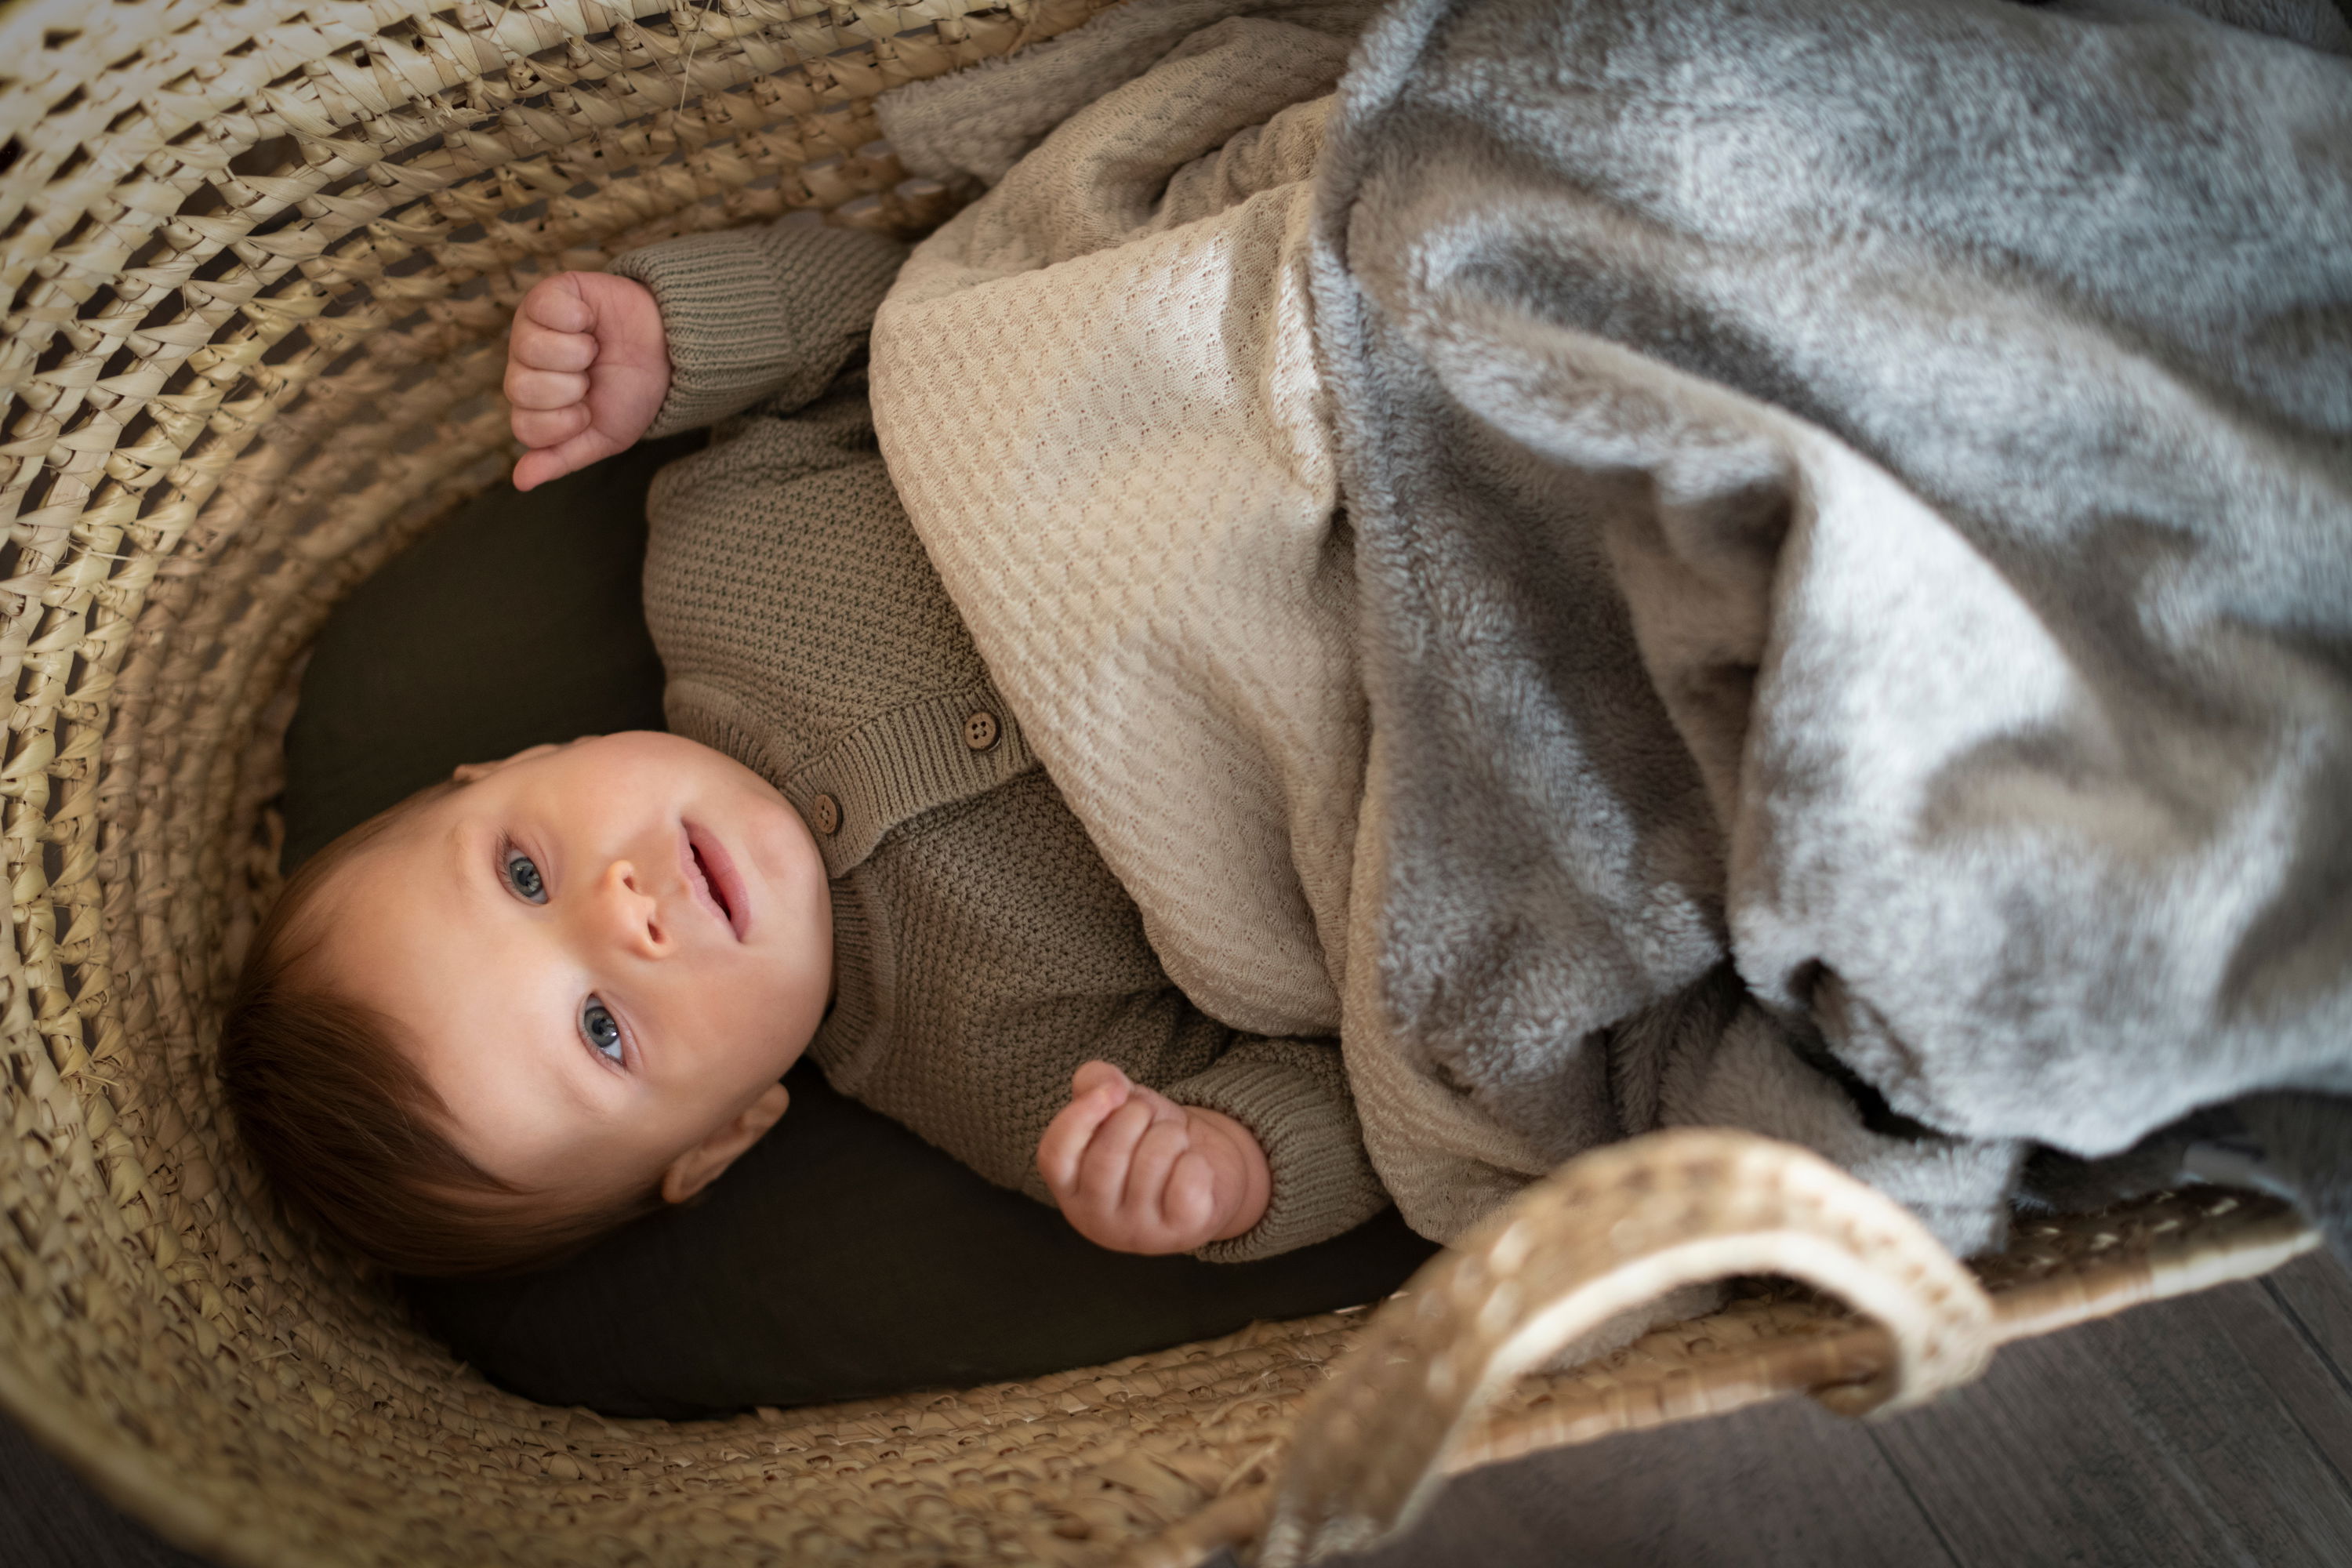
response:
<path id="1" fill-rule="evenodd" d="M 1543 1159 L 1762 1107 L 1962 1246 L 2020 1140 L 2296 1091 L 2326 1164 L 2352 66 L 2319 5 L 2201 9 L 1374 24 L 1315 235 L 1352 1034 Z"/>

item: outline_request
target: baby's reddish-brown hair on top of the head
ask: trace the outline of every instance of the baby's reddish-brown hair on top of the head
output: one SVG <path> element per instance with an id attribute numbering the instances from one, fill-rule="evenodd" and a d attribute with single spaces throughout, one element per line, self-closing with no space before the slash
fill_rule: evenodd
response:
<path id="1" fill-rule="evenodd" d="M 440 783 L 310 856 L 270 907 L 221 1025 L 221 1084 L 245 1147 L 289 1206 L 400 1274 L 510 1274 L 661 1208 L 659 1187 L 553 1204 L 449 1140 L 449 1107 L 390 1018 L 336 994 L 315 954 L 322 893 Z"/>

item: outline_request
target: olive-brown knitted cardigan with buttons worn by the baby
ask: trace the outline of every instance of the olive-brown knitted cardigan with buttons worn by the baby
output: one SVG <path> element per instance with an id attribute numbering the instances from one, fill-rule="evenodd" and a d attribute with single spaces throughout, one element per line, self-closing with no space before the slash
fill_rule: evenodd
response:
<path id="1" fill-rule="evenodd" d="M 837 1001 L 811 1056 L 844 1093 L 1040 1199 L 1037 1138 L 1077 1065 L 1103 1058 L 1265 1147 L 1265 1218 L 1204 1258 L 1350 1229 L 1388 1199 L 1338 1051 L 1235 1034 L 1169 980 L 898 508 L 854 364 L 875 292 L 842 261 L 870 247 L 797 226 L 734 249 L 687 240 L 687 282 L 668 275 L 668 244 L 626 259 L 666 301 L 673 341 L 720 336 L 673 322 L 682 301 L 739 308 L 760 282 L 776 289 L 764 308 L 793 322 L 788 343 L 771 339 L 779 362 L 729 360 L 701 383 L 713 407 L 743 397 L 736 381 L 786 393 L 656 480 L 644 597 L 670 726 L 753 766 L 818 825 Z M 743 275 L 713 275 L 713 256 Z M 828 299 L 844 273 L 851 284 Z M 828 381 L 797 407 L 795 390 Z M 1000 722 L 985 750 L 967 743 L 976 712 Z M 818 797 L 837 811 L 833 832 Z"/>

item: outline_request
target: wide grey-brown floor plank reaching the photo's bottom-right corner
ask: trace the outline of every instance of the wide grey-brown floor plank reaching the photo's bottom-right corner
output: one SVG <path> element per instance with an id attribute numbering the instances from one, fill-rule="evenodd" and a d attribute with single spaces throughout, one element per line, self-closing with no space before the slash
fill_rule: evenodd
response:
<path id="1" fill-rule="evenodd" d="M 2009 1345 L 1877 1439 L 1969 1568 L 2319 1568 L 2352 1561 L 2321 1448 L 2345 1420 L 2324 1359 L 2234 1284 Z"/>

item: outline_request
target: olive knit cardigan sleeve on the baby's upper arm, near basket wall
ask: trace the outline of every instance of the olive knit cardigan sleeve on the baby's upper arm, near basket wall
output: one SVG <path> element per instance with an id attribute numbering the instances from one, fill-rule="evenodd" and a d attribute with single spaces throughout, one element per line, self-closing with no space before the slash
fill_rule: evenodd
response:
<path id="1" fill-rule="evenodd" d="M 896 240 L 797 214 L 616 256 L 607 270 L 654 292 L 670 350 L 670 395 L 647 440 L 816 397 L 863 353 L 901 261 Z"/>

